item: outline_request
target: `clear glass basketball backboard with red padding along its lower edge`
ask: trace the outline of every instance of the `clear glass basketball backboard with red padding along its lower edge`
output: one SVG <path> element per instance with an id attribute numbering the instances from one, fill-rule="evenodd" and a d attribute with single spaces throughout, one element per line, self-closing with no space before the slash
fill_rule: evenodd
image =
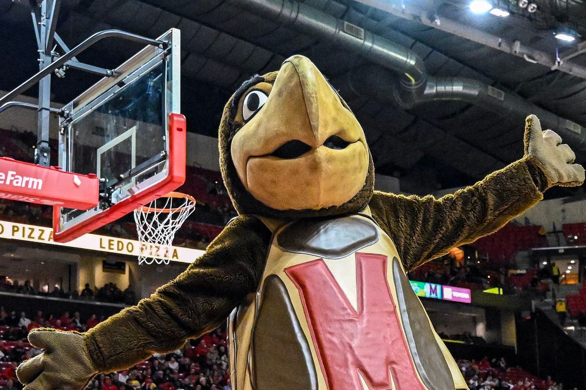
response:
<path id="1" fill-rule="evenodd" d="M 64 106 L 59 164 L 100 180 L 88 210 L 55 207 L 55 241 L 91 232 L 185 181 L 185 118 L 180 112 L 179 30 L 158 38 Z"/>

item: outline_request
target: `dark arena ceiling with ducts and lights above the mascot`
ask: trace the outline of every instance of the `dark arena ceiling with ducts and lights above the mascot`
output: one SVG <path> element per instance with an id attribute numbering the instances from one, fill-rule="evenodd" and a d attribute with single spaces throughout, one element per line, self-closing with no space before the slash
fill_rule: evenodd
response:
<path id="1" fill-rule="evenodd" d="M 506 18 L 471 15 L 464 0 L 63 0 L 57 32 L 72 47 L 104 29 L 156 37 L 178 27 L 182 111 L 190 131 L 214 137 L 242 81 L 304 54 L 356 113 L 377 172 L 399 177 L 403 191 L 426 194 L 472 184 L 520 158 L 524 116 L 538 109 L 586 162 L 586 42 L 579 37 L 586 6 L 539 0 L 528 13 L 517 2 L 501 5 L 511 12 Z M 575 32 L 575 43 L 554 38 L 561 28 Z M 9 90 L 38 70 L 28 1 L 0 0 L 0 37 L 0 89 Z M 362 37 L 376 44 L 357 45 Z M 397 98 L 403 76 L 388 62 L 389 47 L 408 54 L 406 66 L 427 82 L 428 98 Z M 105 40 L 79 59 L 115 67 L 138 49 Z M 53 80 L 53 100 L 64 103 L 97 79 L 70 70 Z"/>

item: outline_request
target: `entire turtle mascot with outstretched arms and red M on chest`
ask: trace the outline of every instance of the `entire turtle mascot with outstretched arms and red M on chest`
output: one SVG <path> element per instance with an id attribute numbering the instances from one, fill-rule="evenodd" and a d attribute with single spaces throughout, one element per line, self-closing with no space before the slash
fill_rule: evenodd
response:
<path id="1" fill-rule="evenodd" d="M 80 390 L 229 317 L 234 390 L 468 389 L 406 272 L 499 229 L 584 169 L 529 116 L 524 157 L 435 199 L 374 191 L 364 132 L 308 58 L 244 83 L 220 163 L 239 216 L 175 280 L 86 333 L 39 329 L 25 390 Z"/>

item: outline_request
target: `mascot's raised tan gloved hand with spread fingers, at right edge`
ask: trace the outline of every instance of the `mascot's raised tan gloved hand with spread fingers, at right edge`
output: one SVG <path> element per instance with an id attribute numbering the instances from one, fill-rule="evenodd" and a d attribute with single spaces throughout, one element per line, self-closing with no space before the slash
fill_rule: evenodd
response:
<path id="1" fill-rule="evenodd" d="M 525 157 L 536 163 L 546 175 L 548 187 L 574 187 L 584 183 L 584 168 L 574 164 L 576 155 L 567 144 L 561 144 L 557 133 L 541 131 L 537 116 L 530 115 L 525 127 Z"/>

